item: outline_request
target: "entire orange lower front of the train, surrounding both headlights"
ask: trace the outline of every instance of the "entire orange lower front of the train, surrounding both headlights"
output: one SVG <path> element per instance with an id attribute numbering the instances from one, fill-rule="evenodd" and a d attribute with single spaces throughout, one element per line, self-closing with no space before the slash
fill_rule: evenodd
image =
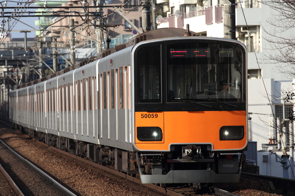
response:
<path id="1" fill-rule="evenodd" d="M 246 111 L 164 112 L 165 136 L 161 127 L 164 141 L 161 144 L 137 140 L 136 127 L 161 126 L 155 119 L 141 118 L 144 113 L 152 112 L 135 112 L 135 143 L 140 150 L 169 150 L 171 143 L 212 143 L 213 150 L 242 149 L 247 143 Z M 220 141 L 222 126 L 244 126 L 245 136 L 242 140 Z"/>

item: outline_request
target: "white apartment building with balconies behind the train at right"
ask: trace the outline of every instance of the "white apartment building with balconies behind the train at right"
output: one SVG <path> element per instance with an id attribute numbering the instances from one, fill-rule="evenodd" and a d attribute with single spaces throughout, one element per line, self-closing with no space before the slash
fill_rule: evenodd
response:
<path id="1" fill-rule="evenodd" d="M 186 29 L 186 24 L 189 24 L 191 31 L 203 36 L 222 38 L 224 35 L 223 1 L 221 0 L 157 0 L 157 3 L 164 4 L 164 12 L 167 14 L 158 20 L 158 28 Z M 285 113 L 284 118 L 288 118 L 289 108 L 283 107 L 285 97 L 281 96 L 281 92 L 293 89 L 292 83 L 294 82 L 292 78 L 290 79 L 278 71 L 277 64 L 263 60 L 266 56 L 278 53 L 277 50 L 272 49 L 273 44 L 264 39 L 276 39 L 266 32 L 272 33 L 275 30 L 274 26 L 267 21 L 274 17 L 276 11 L 254 0 L 241 0 L 241 2 L 236 3 L 236 39 L 244 43 L 248 50 L 248 112 L 249 117 L 252 118 L 250 120 L 252 140 L 257 141 L 258 150 L 257 160 L 249 160 L 249 162 L 257 161 L 254 164 L 260 167 L 260 174 L 262 175 L 283 177 L 282 164 L 277 162 L 280 160 L 276 158 L 276 155 L 281 157 L 283 152 L 276 150 L 277 144 L 268 144 L 271 138 L 279 137 L 279 134 L 276 134 L 276 130 L 273 130 L 267 124 L 270 123 L 272 111 L 276 118 L 282 120 L 283 113 Z M 251 32 L 250 35 L 246 21 Z M 276 28 L 276 30 L 279 29 Z M 284 31 L 280 36 L 289 37 L 291 31 Z M 260 67 L 258 67 L 257 61 Z M 284 105 L 288 106 L 288 103 Z M 286 126 L 289 129 L 289 124 Z M 287 147 L 290 138 L 284 138 L 284 135 L 282 137 L 285 139 L 284 146 Z M 271 154 L 269 150 L 275 152 L 276 155 Z M 287 150 L 287 154 L 289 154 L 289 150 Z M 263 159 L 263 155 L 267 155 L 268 159 Z M 294 169 L 292 170 L 294 171 Z M 291 177 L 293 175 L 291 169 L 289 169 L 289 172 Z"/>

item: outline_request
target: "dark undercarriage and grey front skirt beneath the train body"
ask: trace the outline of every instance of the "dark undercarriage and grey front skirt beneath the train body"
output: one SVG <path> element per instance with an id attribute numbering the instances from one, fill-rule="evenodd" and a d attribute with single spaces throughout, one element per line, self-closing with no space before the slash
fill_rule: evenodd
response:
<path id="1" fill-rule="evenodd" d="M 128 152 L 122 149 L 38 132 L 14 124 L 31 138 L 100 165 L 135 176 L 142 183 L 239 182 L 243 152 L 212 151 L 211 144 L 171 145 L 171 152 Z M 140 168 L 140 169 L 139 169 Z"/>

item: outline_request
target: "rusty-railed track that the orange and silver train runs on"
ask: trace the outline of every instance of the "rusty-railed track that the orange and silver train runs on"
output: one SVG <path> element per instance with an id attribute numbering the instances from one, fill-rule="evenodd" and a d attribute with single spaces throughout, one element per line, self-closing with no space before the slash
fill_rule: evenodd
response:
<path id="1" fill-rule="evenodd" d="M 4 121 L 4 120 L 0 120 L 0 123 L 3 123 L 5 124 L 6 126 L 9 126 L 11 127 L 7 121 Z M 146 187 L 150 190 L 153 190 L 154 192 L 158 192 L 159 194 L 161 195 L 168 195 L 168 196 L 183 196 L 183 194 L 180 194 L 178 192 L 175 192 L 173 190 L 169 190 L 168 188 L 166 187 L 160 187 L 160 186 L 157 186 L 157 185 L 154 185 L 154 184 L 142 184 L 141 183 L 141 180 L 137 177 L 132 177 L 130 175 L 127 175 L 127 174 L 124 174 L 124 173 L 121 173 L 119 171 L 116 171 L 116 170 L 113 170 L 112 168 L 109 168 L 109 167 L 106 167 L 106 166 L 103 166 L 103 165 L 99 165 L 97 163 L 94 163 L 94 162 L 91 162 L 90 160 L 86 160 L 82 157 L 78 157 L 76 155 L 73 155 L 71 153 L 68 153 L 68 152 L 65 152 L 63 150 L 59 150 L 57 148 L 54 148 L 54 147 L 51 147 L 43 142 L 39 142 L 37 141 L 35 138 L 33 138 L 33 140 L 39 144 L 39 145 L 42 145 L 42 146 L 45 146 L 55 152 L 58 152 L 62 155 L 65 155 L 65 156 L 68 156 L 68 157 L 71 157 L 73 159 L 76 159 L 80 162 L 83 162 L 83 163 L 86 163 L 88 165 L 91 165 L 91 166 L 94 166 L 96 168 L 99 168 L 100 170 L 104 170 L 112 175 L 115 175 L 117 177 L 120 177 L 120 178 L 123 178 L 123 179 L 126 179 L 126 180 L 129 180 L 135 184 L 138 184 L 138 185 L 141 185 L 143 187 Z M 196 187 L 196 186 L 195 186 Z M 214 187 L 209 187 L 208 189 L 208 192 L 210 192 L 211 194 L 214 194 L 214 195 L 219 195 L 219 196 L 239 196 L 237 194 L 234 194 L 234 193 L 231 193 L 231 192 L 227 192 L 227 191 L 224 191 L 224 190 L 221 190 L 221 189 L 218 189 L 218 188 L 214 188 Z"/>

